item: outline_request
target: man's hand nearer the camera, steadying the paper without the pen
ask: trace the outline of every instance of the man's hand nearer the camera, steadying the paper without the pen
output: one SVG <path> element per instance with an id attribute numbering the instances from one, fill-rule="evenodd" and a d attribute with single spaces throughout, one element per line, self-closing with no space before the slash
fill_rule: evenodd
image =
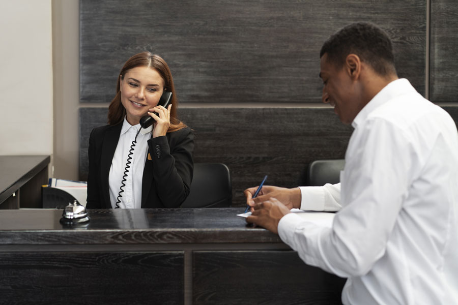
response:
<path id="1" fill-rule="evenodd" d="M 246 218 L 246 222 L 266 228 L 275 234 L 278 234 L 280 219 L 291 213 L 288 207 L 275 198 L 255 204 L 252 209 L 251 216 Z"/>

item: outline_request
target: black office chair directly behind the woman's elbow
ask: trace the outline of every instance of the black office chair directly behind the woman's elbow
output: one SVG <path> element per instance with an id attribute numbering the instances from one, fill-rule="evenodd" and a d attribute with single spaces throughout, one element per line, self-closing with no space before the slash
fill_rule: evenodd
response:
<path id="1" fill-rule="evenodd" d="M 194 163 L 191 192 L 181 207 L 230 207 L 232 184 L 223 163 Z"/>

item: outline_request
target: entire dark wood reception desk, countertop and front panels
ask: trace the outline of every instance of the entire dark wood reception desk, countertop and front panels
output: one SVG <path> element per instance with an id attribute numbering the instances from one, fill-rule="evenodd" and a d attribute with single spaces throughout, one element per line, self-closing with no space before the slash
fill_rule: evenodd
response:
<path id="1" fill-rule="evenodd" d="M 243 208 L 0 211 L 1 304 L 338 304 L 345 279 L 303 263 Z"/>

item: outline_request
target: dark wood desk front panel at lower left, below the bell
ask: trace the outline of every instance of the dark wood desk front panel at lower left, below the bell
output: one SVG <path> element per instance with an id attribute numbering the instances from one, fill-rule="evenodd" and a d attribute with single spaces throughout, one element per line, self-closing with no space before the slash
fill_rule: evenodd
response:
<path id="1" fill-rule="evenodd" d="M 1 304 L 184 302 L 183 252 L 6 252 L 0 272 Z"/>

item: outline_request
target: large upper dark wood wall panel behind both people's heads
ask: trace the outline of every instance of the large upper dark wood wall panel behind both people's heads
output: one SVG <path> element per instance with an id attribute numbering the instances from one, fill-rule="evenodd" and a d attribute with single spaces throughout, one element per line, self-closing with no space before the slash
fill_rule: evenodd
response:
<path id="1" fill-rule="evenodd" d="M 143 50 L 165 58 L 183 103 L 319 102 L 320 48 L 355 21 L 389 33 L 399 76 L 424 94 L 424 0 L 80 0 L 81 102 L 108 103 Z"/>

